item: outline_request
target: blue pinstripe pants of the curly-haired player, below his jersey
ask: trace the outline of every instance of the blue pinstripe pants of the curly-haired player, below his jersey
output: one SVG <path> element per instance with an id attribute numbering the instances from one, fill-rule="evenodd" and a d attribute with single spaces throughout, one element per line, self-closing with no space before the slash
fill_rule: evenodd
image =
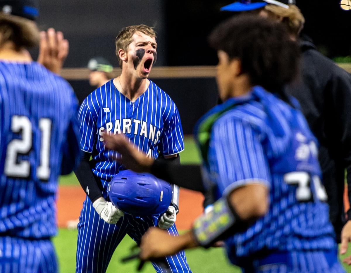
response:
<path id="1" fill-rule="evenodd" d="M 263 261 L 265 260 L 265 261 Z M 243 268 L 244 273 L 344 273 L 337 258 L 337 249 L 332 251 L 300 251 L 284 255 L 270 255 L 267 259 L 254 260 L 253 268 Z M 268 263 L 267 263 L 268 262 Z"/>

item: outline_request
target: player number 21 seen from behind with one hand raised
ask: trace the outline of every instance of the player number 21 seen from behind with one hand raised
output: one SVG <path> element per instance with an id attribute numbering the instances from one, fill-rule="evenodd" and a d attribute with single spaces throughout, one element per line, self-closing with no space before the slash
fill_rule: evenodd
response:
<path id="1" fill-rule="evenodd" d="M 0 272 L 57 272 L 58 176 L 79 164 L 78 101 L 59 73 L 62 33 L 39 33 L 37 1 L 0 1 Z M 27 48 L 38 45 L 38 61 Z"/>

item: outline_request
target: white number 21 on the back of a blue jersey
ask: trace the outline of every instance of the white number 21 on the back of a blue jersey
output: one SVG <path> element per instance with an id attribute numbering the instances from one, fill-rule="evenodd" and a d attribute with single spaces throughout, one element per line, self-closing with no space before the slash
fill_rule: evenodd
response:
<path id="1" fill-rule="evenodd" d="M 39 120 L 41 131 L 40 165 L 37 168 L 37 177 L 48 180 L 50 176 L 50 140 L 51 120 L 41 118 Z M 28 178 L 31 172 L 31 164 L 28 160 L 20 160 L 19 154 L 29 154 L 33 147 L 33 131 L 31 121 L 26 116 L 13 116 L 11 119 L 11 131 L 21 135 L 21 139 L 13 139 L 7 145 L 4 173 L 7 177 Z"/>

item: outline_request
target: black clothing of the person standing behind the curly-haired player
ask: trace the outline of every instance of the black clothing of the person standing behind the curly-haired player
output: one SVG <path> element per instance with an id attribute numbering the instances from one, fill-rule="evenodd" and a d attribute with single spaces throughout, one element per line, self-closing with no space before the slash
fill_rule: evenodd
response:
<path id="1" fill-rule="evenodd" d="M 349 240 L 350 235 L 345 232 L 351 229 L 351 211 L 345 215 L 343 204 L 345 169 L 351 199 L 351 75 L 320 54 L 307 37 L 301 39 L 300 48 L 302 80 L 287 87 L 287 92 L 299 100 L 319 141 L 319 162 L 328 193 L 330 219 L 337 241 L 343 242 L 340 236 Z M 347 241 L 342 244 L 345 246 Z"/>

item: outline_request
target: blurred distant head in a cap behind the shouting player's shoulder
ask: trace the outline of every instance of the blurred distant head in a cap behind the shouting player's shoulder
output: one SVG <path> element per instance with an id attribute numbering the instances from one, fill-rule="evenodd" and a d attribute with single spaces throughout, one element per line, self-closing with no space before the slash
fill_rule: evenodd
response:
<path id="1" fill-rule="evenodd" d="M 113 78 L 113 66 L 105 58 L 95 57 L 88 62 L 89 84 L 99 88 Z"/>

